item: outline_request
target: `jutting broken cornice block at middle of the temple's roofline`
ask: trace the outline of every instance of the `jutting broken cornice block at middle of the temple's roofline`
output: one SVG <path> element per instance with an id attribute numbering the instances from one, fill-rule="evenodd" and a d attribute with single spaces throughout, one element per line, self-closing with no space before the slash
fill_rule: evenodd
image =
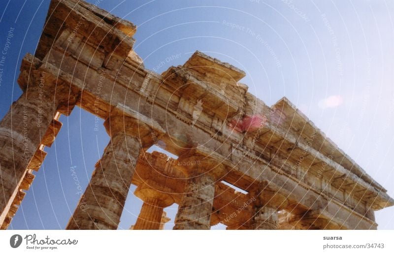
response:
<path id="1" fill-rule="evenodd" d="M 210 116 L 216 115 L 224 121 L 243 107 L 245 90 L 237 85 L 237 81 L 245 76 L 245 72 L 201 52 L 195 52 L 181 67 L 168 68 L 162 76 L 175 89 L 175 93 L 181 93 L 186 99 L 179 101 L 177 109 L 180 113 L 177 117 L 186 122 L 187 118 L 184 119 L 183 115 L 201 112 L 203 108 L 208 109 L 205 113 L 209 112 Z M 201 109 L 194 109 L 197 103 L 200 103 Z"/>

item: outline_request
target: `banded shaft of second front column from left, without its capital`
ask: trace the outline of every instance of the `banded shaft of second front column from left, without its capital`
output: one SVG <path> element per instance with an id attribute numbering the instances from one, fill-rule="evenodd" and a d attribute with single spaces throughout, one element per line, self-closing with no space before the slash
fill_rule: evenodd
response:
<path id="1" fill-rule="evenodd" d="M 111 137 L 66 229 L 118 228 L 139 147 L 124 132 Z"/>

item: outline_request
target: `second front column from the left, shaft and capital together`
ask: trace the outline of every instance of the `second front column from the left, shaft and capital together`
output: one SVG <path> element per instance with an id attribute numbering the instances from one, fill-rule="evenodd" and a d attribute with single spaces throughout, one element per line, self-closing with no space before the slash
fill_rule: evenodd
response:
<path id="1" fill-rule="evenodd" d="M 137 112 L 123 108 L 105 121 L 111 140 L 66 229 L 117 229 L 138 154 L 155 142 L 153 131 L 164 133 L 153 120 L 140 118 Z"/>

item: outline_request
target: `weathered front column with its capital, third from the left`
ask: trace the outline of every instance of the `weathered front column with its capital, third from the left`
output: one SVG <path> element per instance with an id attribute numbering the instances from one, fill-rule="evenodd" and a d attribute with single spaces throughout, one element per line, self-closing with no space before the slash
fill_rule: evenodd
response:
<path id="1" fill-rule="evenodd" d="M 221 160 L 204 156 L 179 158 L 189 177 L 173 229 L 210 229 L 215 182 L 225 173 Z"/>

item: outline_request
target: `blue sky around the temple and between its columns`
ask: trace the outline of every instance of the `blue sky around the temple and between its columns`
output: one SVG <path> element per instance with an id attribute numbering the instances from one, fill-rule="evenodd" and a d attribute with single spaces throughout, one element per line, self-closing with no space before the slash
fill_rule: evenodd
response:
<path id="1" fill-rule="evenodd" d="M 134 50 L 151 70 L 183 64 L 199 50 L 245 70 L 241 82 L 266 104 L 287 96 L 394 196 L 393 1 L 90 2 L 138 26 Z M 1 48 L 14 28 L 0 83 L 1 118 L 21 95 L 20 62 L 34 52 L 48 6 L 49 0 L 0 2 Z M 94 131 L 94 116 L 79 108 L 61 121 L 10 228 L 64 229 L 79 198 L 71 167 L 85 190 L 109 141 L 104 127 Z M 129 228 L 142 205 L 133 190 L 119 228 Z M 176 206 L 166 211 L 173 218 Z M 394 208 L 377 212 L 376 220 L 380 229 L 394 229 Z"/>

